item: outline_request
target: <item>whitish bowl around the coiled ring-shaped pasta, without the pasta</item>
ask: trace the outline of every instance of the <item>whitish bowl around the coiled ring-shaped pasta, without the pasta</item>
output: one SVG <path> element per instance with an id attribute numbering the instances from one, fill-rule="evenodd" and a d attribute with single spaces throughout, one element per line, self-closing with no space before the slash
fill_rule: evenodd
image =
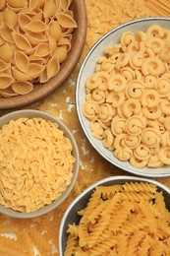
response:
<path id="1" fill-rule="evenodd" d="M 82 128 L 85 132 L 85 136 L 93 148 L 105 159 L 116 165 L 117 167 L 124 169 L 130 173 L 142 175 L 146 177 L 161 177 L 170 176 L 170 166 L 164 165 L 158 168 L 137 168 L 130 164 L 129 161 L 117 160 L 113 153 L 106 150 L 100 140 L 95 139 L 89 128 L 89 120 L 85 118 L 83 114 L 83 104 L 85 103 L 85 82 L 86 79 L 94 73 L 97 60 L 103 55 L 106 48 L 113 46 L 115 43 L 120 41 L 120 37 L 123 32 L 145 32 L 146 29 L 151 25 L 160 25 L 163 28 L 170 29 L 169 18 L 146 18 L 135 20 L 126 24 L 123 24 L 116 29 L 106 33 L 101 37 L 89 50 L 85 60 L 80 69 L 80 73 L 77 80 L 76 89 L 76 104 L 77 112 Z"/>

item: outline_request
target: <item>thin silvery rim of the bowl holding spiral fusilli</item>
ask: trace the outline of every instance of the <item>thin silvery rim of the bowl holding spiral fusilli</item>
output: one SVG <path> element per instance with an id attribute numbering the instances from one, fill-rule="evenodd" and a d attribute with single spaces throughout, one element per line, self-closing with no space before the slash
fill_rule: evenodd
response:
<path id="1" fill-rule="evenodd" d="M 137 181 L 137 182 L 147 182 L 147 183 L 150 183 L 150 184 L 154 184 L 157 187 L 160 187 L 162 190 L 166 191 L 170 195 L 170 188 L 168 188 L 167 186 L 165 186 L 164 184 L 162 184 L 159 181 L 156 181 L 154 179 L 145 178 L 145 177 L 128 176 L 128 175 L 116 175 L 116 176 L 109 176 L 109 177 L 106 177 L 106 178 L 103 178 L 103 179 L 100 179 L 100 180 L 94 182 L 92 185 L 88 186 L 78 197 L 76 197 L 74 199 L 74 201 L 69 205 L 69 207 L 67 208 L 67 210 L 65 211 L 65 213 L 62 217 L 62 220 L 61 220 L 61 223 L 60 223 L 60 226 L 59 226 L 59 238 L 58 238 L 58 241 L 59 241 L 59 255 L 61 255 L 61 256 L 64 255 L 63 251 L 62 251 L 62 244 L 63 244 L 62 243 L 62 236 L 63 236 L 63 232 L 64 232 L 63 229 L 64 229 L 65 221 L 66 221 L 69 213 L 75 207 L 75 205 L 79 201 L 81 201 L 87 193 L 90 193 L 90 191 L 92 193 L 92 190 L 95 187 L 103 185 L 104 183 L 109 182 L 109 181 L 119 181 L 120 180 L 120 182 L 121 182 L 121 180 L 123 180 L 123 179 L 126 180 L 125 182 L 131 182 L 131 181 L 136 182 Z"/>

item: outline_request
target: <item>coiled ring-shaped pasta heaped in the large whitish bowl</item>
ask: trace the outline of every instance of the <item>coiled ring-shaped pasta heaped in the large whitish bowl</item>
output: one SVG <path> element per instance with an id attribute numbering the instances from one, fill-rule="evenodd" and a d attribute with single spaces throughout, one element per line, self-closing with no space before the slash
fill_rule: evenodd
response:
<path id="1" fill-rule="evenodd" d="M 92 135 L 136 167 L 170 164 L 170 31 L 124 32 L 86 81 Z"/>

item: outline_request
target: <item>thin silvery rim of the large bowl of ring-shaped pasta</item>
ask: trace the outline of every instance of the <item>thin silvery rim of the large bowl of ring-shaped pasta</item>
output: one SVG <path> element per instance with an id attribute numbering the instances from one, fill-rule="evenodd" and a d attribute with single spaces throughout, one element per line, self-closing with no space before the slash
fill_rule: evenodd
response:
<path id="1" fill-rule="evenodd" d="M 131 26 L 131 25 L 136 25 L 138 23 L 142 23 L 142 22 L 157 22 L 157 21 L 162 21 L 162 22 L 169 22 L 170 23 L 170 18 L 166 18 L 166 17 L 149 17 L 149 18 L 141 18 L 141 19 L 136 19 L 136 20 L 132 20 L 130 22 L 126 22 L 116 28 L 114 28 L 113 30 L 106 32 L 103 36 L 101 36 L 93 45 L 92 47 L 89 49 L 89 51 L 87 52 L 87 54 L 85 55 L 85 59 L 81 65 L 79 74 L 78 74 L 78 79 L 77 79 L 77 85 L 76 85 L 76 109 L 77 109 L 77 114 L 78 114 L 78 118 L 80 121 L 80 124 L 82 126 L 82 129 L 85 133 L 85 137 L 88 140 L 88 142 L 90 143 L 90 145 L 93 147 L 93 149 L 98 152 L 98 154 L 103 157 L 103 159 L 108 160 L 110 163 L 112 163 L 113 165 L 115 165 L 116 167 L 132 173 L 134 175 L 138 175 L 138 176 L 142 176 L 142 177 L 169 177 L 170 176 L 170 171 L 167 173 L 166 171 L 164 171 L 163 173 L 148 173 L 148 172 L 142 172 L 143 168 L 134 168 L 131 169 L 131 167 L 125 167 L 124 165 L 121 164 L 121 160 L 118 160 L 118 162 L 114 161 L 114 159 L 110 159 L 108 156 L 106 156 L 102 149 L 99 149 L 99 147 L 97 147 L 95 145 L 95 142 L 93 140 L 90 139 L 90 135 L 89 133 L 86 131 L 85 129 L 85 123 L 83 120 L 83 114 L 82 114 L 82 110 L 81 110 L 81 106 L 80 106 L 80 96 L 79 96 L 79 90 L 81 88 L 81 80 L 82 80 L 82 75 L 84 73 L 84 69 L 85 69 L 85 65 L 86 62 L 88 60 L 88 58 L 92 55 L 92 52 L 96 49 L 96 47 L 100 44 L 100 42 L 102 42 L 106 37 L 108 37 L 110 34 L 112 34 L 113 32 L 117 32 L 119 30 L 122 30 L 124 28 L 126 28 L 127 26 Z M 99 56 L 98 56 L 99 57 Z M 84 90 L 84 89 L 82 89 Z M 154 170 L 154 168 L 150 168 L 152 170 Z M 158 168 L 157 168 L 158 169 Z"/>

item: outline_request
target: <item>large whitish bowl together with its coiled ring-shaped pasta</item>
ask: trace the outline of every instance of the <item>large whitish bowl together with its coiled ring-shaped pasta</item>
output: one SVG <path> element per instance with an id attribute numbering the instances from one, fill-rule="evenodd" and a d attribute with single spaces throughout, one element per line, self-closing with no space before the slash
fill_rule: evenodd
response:
<path id="1" fill-rule="evenodd" d="M 140 19 L 106 33 L 78 77 L 87 139 L 103 158 L 138 175 L 170 175 L 169 24 Z"/>

